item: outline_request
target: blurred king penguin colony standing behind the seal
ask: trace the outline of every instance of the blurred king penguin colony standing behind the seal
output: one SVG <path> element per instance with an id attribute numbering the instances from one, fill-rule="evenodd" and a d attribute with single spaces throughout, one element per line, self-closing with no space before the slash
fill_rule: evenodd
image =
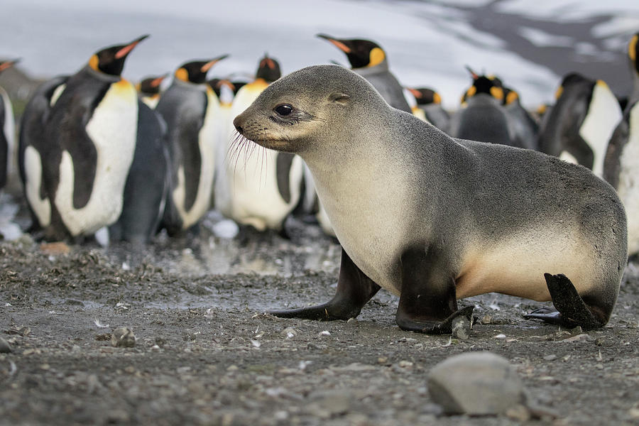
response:
<path id="1" fill-rule="evenodd" d="M 302 160 L 247 141 L 232 125 L 280 77 L 277 60 L 258 60 L 250 80 L 207 80 L 226 55 L 187 60 L 162 92 L 169 74 L 136 85 L 121 77 L 126 58 L 146 37 L 98 50 L 75 74 L 40 85 L 24 110 L 17 144 L 11 103 L 0 89 L 0 187 L 16 159 L 29 230 L 48 241 L 82 241 L 106 227 L 111 240 L 144 243 L 161 229 L 184 234 L 217 209 L 238 224 L 283 235 L 295 211 L 332 234 Z M 617 190 L 628 214 L 629 253 L 639 252 L 639 33 L 628 43 L 634 84 L 627 97 L 617 99 L 606 82 L 573 72 L 559 84 L 555 104 L 534 113 L 508 82 L 471 67 L 459 109 L 446 111 L 435 89 L 403 87 L 377 43 L 318 37 L 342 50 L 351 70 L 388 104 L 450 136 L 542 151 L 590 168 Z M 0 72 L 16 62 L 0 62 Z"/>

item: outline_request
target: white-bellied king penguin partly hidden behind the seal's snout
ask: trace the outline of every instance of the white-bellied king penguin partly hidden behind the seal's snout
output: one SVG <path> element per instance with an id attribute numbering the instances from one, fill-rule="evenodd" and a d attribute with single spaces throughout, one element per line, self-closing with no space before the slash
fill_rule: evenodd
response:
<path id="1" fill-rule="evenodd" d="M 239 89 L 233 99 L 231 120 L 280 75 L 278 62 L 265 55 L 259 62 L 255 80 Z M 233 126 L 231 129 L 234 130 Z M 216 209 L 239 224 L 251 225 L 258 231 L 273 229 L 285 236 L 285 219 L 293 212 L 302 192 L 302 159 L 236 139 L 229 131 L 220 144 L 219 160 Z"/>

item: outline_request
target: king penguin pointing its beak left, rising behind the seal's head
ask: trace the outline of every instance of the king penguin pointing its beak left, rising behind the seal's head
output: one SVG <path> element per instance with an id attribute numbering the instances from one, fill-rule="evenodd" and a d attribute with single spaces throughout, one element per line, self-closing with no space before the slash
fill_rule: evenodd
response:
<path id="1" fill-rule="evenodd" d="M 406 102 L 402 85 L 388 69 L 386 53 L 377 43 L 371 40 L 334 38 L 326 34 L 317 34 L 317 37 L 329 40 L 346 53 L 351 62 L 351 70 L 373 84 L 391 107 L 413 112 Z"/>

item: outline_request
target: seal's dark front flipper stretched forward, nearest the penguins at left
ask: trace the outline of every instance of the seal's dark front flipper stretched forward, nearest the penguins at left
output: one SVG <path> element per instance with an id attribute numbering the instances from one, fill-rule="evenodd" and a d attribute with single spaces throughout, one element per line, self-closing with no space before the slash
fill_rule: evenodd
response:
<path id="1" fill-rule="evenodd" d="M 359 315 L 361 308 L 366 305 L 368 300 L 371 300 L 379 288 L 379 285 L 368 278 L 342 249 L 337 292 L 329 302 L 293 310 L 273 310 L 268 313 L 275 315 L 275 317 L 304 318 L 306 320 L 349 320 Z"/>

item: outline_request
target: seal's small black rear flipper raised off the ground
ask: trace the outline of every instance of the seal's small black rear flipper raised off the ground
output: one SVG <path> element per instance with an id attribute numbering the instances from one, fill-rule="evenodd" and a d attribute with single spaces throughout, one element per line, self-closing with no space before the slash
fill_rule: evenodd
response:
<path id="1" fill-rule="evenodd" d="M 544 320 L 564 327 L 577 327 L 577 325 L 584 329 L 603 327 L 604 323 L 584 303 L 566 275 L 545 273 L 544 278 L 546 278 L 546 285 L 552 298 L 552 305 L 555 305 L 557 310 L 542 307 L 524 315 L 524 318 Z"/>

